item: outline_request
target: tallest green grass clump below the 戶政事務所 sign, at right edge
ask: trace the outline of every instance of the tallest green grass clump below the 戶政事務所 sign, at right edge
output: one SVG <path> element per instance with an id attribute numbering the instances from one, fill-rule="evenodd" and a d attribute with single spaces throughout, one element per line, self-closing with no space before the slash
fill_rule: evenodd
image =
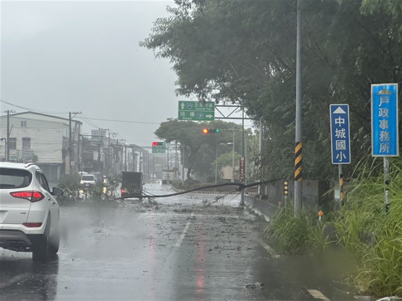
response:
<path id="1" fill-rule="evenodd" d="M 358 259 L 354 283 L 360 290 L 402 296 L 402 160 L 390 160 L 389 212 L 384 206 L 383 174 L 373 175 L 382 160 L 373 160 L 371 169 L 368 160 L 362 161 L 364 168 L 348 187 L 346 206 L 335 222 L 338 238 Z"/>

